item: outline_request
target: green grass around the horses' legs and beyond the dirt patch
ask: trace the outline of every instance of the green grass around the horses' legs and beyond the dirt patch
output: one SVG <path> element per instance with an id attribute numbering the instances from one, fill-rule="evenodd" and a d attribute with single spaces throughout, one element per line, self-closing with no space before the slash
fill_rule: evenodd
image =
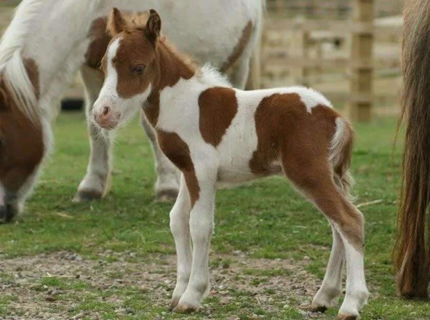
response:
<path id="1" fill-rule="evenodd" d="M 15 224 L 0 226 L 2 255 L 14 258 L 69 250 L 78 252 L 84 259 L 99 259 L 98 252 L 110 249 L 114 252 L 136 252 L 135 260 L 139 261 L 144 260 L 148 253 L 175 253 L 168 228 L 171 204 L 153 201 L 155 172 L 152 152 L 137 120 L 123 129 L 116 139 L 113 185 L 106 198 L 89 204 L 71 202 L 85 173 L 89 154 L 83 123 L 84 117 L 80 113 L 59 116 L 54 130 L 55 151 L 27 203 L 25 214 Z M 357 124 L 356 130 L 358 138 L 352 172 L 357 182 L 357 203 L 382 200 L 362 207 L 367 234 L 365 268 L 373 295 L 362 312 L 362 318 L 427 318 L 430 314 L 428 302 L 401 300 L 396 295 L 393 279 L 391 250 L 396 232 L 401 162 L 400 147 L 394 152 L 392 150 L 395 120 L 377 119 L 372 124 Z M 322 278 L 330 246 L 331 231 L 326 219 L 282 178 L 218 191 L 216 233 L 212 239 L 212 250 L 216 253 L 241 250 L 252 258 L 293 257 L 298 263 L 305 258 L 310 260 L 307 270 Z M 216 267 L 229 263 L 227 259 L 211 262 L 211 265 Z M 254 270 L 246 267 L 244 272 L 257 275 L 263 281 L 267 276 L 289 274 L 288 270 L 282 269 Z M 6 274 L 0 275 L 2 279 L 7 278 Z M 81 303 L 77 309 L 98 310 L 105 319 L 115 318 L 115 308 L 100 300 L 102 295 L 124 297 L 134 310 L 134 314 L 123 317 L 126 319 L 152 318 L 142 317 L 143 311 L 153 316 L 167 311 L 146 301 L 145 297 L 150 292 L 141 293 L 133 287 L 100 291 L 82 282 L 67 283 L 55 278 L 42 278 L 41 284 L 88 289 L 88 296 L 78 296 Z M 270 289 L 267 293 L 275 294 L 275 291 Z M 214 316 L 222 319 L 223 314 L 228 313 L 248 318 L 248 315 L 241 314 L 241 308 L 251 303 L 249 299 L 241 300 L 239 290 L 230 294 L 239 302 L 218 306 L 217 298 L 208 298 L 207 303 L 213 308 Z M 0 298 L 0 315 L 7 314 L 8 303 L 14 300 L 16 297 L 9 295 Z M 279 306 L 280 311 L 274 313 L 259 308 L 256 305 L 254 313 L 262 313 L 268 318 L 303 318 L 295 307 L 283 309 Z M 331 309 L 322 318 L 333 318 L 336 312 L 337 308 Z M 163 316 L 182 317 L 168 312 Z"/>

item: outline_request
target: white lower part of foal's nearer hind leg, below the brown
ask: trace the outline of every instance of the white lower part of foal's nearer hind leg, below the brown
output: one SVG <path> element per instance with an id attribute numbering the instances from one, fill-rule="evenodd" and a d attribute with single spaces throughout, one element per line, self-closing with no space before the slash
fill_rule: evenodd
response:
<path id="1" fill-rule="evenodd" d="M 369 298 L 369 291 L 364 279 L 363 250 L 357 250 L 342 233 L 340 236 L 345 247 L 347 260 L 347 286 L 345 299 L 340 306 L 337 319 L 356 320 L 360 318 L 358 312 Z"/>

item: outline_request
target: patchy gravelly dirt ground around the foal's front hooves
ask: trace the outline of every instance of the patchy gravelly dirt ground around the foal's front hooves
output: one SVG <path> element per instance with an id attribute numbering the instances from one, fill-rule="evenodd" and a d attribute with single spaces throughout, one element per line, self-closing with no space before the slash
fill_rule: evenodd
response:
<path id="1" fill-rule="evenodd" d="M 1 319 L 169 318 L 175 285 L 175 257 L 134 252 L 99 254 L 85 260 L 70 252 L 2 259 Z M 248 259 L 242 252 L 211 255 L 210 295 L 197 318 L 226 319 L 245 314 L 264 318 L 283 312 L 305 313 L 320 281 L 303 268 L 304 261 Z M 256 310 L 255 306 L 259 306 Z M 194 318 L 192 315 L 187 318 Z M 269 316 L 270 318 L 270 316 Z"/>

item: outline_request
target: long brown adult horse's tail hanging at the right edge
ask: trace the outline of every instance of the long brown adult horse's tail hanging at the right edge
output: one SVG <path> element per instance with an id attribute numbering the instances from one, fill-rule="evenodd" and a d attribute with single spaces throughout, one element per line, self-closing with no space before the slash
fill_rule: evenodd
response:
<path id="1" fill-rule="evenodd" d="M 427 297 L 430 280 L 430 2 L 407 0 L 402 44 L 401 119 L 406 137 L 398 215 L 397 287 Z"/>

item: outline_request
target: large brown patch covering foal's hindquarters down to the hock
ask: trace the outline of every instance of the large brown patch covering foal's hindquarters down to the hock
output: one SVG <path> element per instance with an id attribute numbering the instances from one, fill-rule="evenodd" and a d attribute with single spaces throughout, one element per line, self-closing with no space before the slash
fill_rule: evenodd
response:
<path id="1" fill-rule="evenodd" d="M 280 161 L 286 176 L 333 220 L 358 250 L 363 248 L 362 216 L 340 195 L 328 152 L 340 115 L 325 105 L 308 112 L 296 93 L 273 94 L 255 111 L 257 150 L 249 161 L 255 175 L 269 175 Z"/>

